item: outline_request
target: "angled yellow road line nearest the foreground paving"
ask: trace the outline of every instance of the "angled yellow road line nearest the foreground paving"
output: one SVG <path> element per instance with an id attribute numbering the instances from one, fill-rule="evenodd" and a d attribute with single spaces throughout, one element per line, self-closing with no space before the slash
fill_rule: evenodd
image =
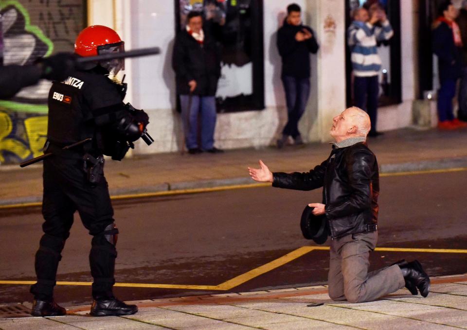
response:
<path id="1" fill-rule="evenodd" d="M 183 285 L 183 284 L 151 284 L 151 283 L 115 283 L 115 286 L 126 288 L 159 288 L 159 289 L 188 289 L 188 290 L 220 290 L 228 291 L 243 283 L 250 281 L 260 275 L 263 275 L 273 269 L 285 265 L 313 250 L 329 250 L 329 246 L 302 246 L 286 255 L 259 266 L 242 275 L 229 279 L 219 285 Z M 377 247 L 376 251 L 387 252 L 428 252 L 428 253 L 467 253 L 467 249 L 424 249 L 424 248 L 405 248 L 405 247 Z M 36 281 L 15 281 L 0 280 L 0 284 L 8 285 L 31 285 Z M 92 282 L 64 282 L 57 281 L 57 285 L 87 285 Z"/>

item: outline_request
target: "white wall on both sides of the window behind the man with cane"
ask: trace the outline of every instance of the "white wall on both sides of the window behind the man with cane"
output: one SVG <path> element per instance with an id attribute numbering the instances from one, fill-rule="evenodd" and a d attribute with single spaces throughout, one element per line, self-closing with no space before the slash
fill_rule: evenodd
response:
<path id="1" fill-rule="evenodd" d="M 119 0 L 124 1 L 124 0 Z M 118 2 L 118 1 L 117 1 Z M 129 1 L 128 1 L 129 2 Z M 305 0 L 295 1 L 306 8 Z M 285 17 L 286 2 L 267 0 L 264 4 L 265 104 L 262 111 L 219 114 L 216 145 L 221 148 L 264 146 L 275 141 L 286 120 L 285 96 L 280 81 L 280 57 L 275 46 L 276 31 Z M 131 43 L 127 48 L 158 46 L 157 56 L 131 60 L 127 72 L 131 83 L 130 100 L 135 107 L 148 112 L 148 131 L 155 139 L 150 147 L 137 144 L 136 153 L 180 150 L 180 115 L 175 111 L 175 77 L 171 54 L 175 37 L 173 1 L 131 0 L 131 8 L 123 12 L 123 21 L 131 22 Z M 125 36 L 126 37 L 126 36 Z"/>

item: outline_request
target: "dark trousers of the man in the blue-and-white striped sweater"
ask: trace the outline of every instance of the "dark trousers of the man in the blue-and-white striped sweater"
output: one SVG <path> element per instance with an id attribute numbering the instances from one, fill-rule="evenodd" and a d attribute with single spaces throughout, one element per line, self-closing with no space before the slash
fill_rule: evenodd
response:
<path id="1" fill-rule="evenodd" d="M 371 130 L 376 132 L 378 116 L 378 76 L 354 78 L 354 103 L 370 116 Z"/>

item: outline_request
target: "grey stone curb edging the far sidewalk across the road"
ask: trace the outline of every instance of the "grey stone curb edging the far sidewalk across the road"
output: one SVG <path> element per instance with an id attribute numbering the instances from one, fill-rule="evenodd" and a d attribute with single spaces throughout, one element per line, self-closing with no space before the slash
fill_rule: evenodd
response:
<path id="1" fill-rule="evenodd" d="M 442 171 L 442 170 L 458 170 L 467 171 L 467 157 L 452 157 L 441 158 L 434 160 L 422 160 L 415 162 L 406 162 L 398 164 L 382 164 L 379 167 L 380 174 L 398 174 L 398 173 L 423 173 L 423 171 Z M 155 186 L 146 186 L 138 188 L 119 188 L 110 189 L 110 196 L 112 198 L 131 198 L 133 197 L 151 197 L 151 196 L 138 196 L 144 194 L 155 194 L 163 192 L 173 192 L 172 194 L 186 194 L 201 191 L 203 189 L 216 189 L 216 190 L 229 190 L 235 186 L 248 186 L 248 187 L 261 187 L 265 184 L 255 183 L 251 181 L 250 177 L 236 177 L 227 179 L 212 179 L 212 180 L 197 180 L 176 183 L 162 183 Z M 247 188 L 247 187 L 243 187 Z M 170 193 L 169 193 L 170 194 Z M 42 196 L 27 196 L 14 199 L 0 200 L 1 208 L 18 207 L 22 204 L 24 206 L 33 206 L 42 202 Z"/>

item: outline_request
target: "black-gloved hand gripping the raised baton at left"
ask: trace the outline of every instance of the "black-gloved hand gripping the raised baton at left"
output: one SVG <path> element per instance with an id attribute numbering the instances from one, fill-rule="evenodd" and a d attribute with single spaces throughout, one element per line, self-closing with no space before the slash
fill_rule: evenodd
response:
<path id="1" fill-rule="evenodd" d="M 61 52 L 49 57 L 39 58 L 36 65 L 42 68 L 42 78 L 62 81 L 68 78 L 75 68 L 76 55 Z"/>

